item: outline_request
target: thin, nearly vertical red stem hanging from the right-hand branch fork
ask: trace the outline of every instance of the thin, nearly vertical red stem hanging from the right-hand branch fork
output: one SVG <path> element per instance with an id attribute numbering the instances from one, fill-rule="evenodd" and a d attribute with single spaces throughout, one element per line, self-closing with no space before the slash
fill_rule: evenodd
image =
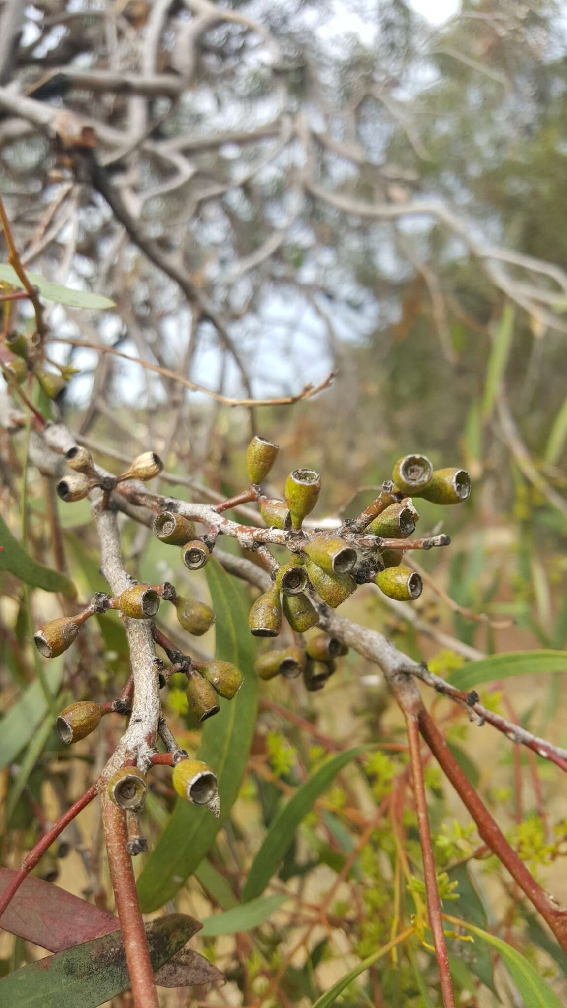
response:
<path id="1" fill-rule="evenodd" d="M 416 811 L 418 813 L 418 827 L 420 830 L 420 840 L 422 846 L 422 858 L 424 862 L 424 877 L 427 895 L 427 908 L 429 913 L 429 923 L 433 932 L 433 942 L 435 944 L 435 955 L 441 982 L 441 993 L 445 1008 L 455 1008 L 455 994 L 451 981 L 451 971 L 449 969 L 449 953 L 445 941 L 445 931 L 443 930 L 443 920 L 441 917 L 441 900 L 437 886 L 437 870 L 433 847 L 431 844 L 431 831 L 429 829 L 429 817 L 427 813 L 427 797 L 424 784 L 424 768 L 422 764 L 422 754 L 420 752 L 420 728 L 418 719 L 414 714 L 406 714 L 406 726 L 408 728 L 408 741 L 410 743 L 410 762 L 412 765 L 412 783 L 414 785 L 414 796 L 416 799 Z"/>

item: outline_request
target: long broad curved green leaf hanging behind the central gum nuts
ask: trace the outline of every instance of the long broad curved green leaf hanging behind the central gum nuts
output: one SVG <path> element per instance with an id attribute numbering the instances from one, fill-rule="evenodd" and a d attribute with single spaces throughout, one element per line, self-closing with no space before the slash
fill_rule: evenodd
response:
<path id="1" fill-rule="evenodd" d="M 234 700 L 221 699 L 220 714 L 205 722 L 197 754 L 217 774 L 221 813 L 215 820 L 207 808 L 178 801 L 138 879 L 144 912 L 172 899 L 209 851 L 238 796 L 256 724 L 255 648 L 248 630 L 245 595 L 217 560 L 211 560 L 205 571 L 217 617 L 216 656 L 234 662 L 244 675 Z"/>

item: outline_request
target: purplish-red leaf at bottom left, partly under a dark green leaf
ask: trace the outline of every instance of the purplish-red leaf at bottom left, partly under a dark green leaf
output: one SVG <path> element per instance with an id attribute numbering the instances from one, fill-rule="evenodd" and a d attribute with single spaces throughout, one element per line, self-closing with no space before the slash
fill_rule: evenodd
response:
<path id="1" fill-rule="evenodd" d="M 15 872 L 0 868 L 0 896 Z M 2 927 L 48 952 L 63 952 L 78 941 L 110 934 L 118 918 L 73 896 L 65 889 L 28 876 L 2 915 Z M 222 973 L 204 956 L 182 949 L 155 974 L 160 987 L 185 987 L 224 980 Z"/>

